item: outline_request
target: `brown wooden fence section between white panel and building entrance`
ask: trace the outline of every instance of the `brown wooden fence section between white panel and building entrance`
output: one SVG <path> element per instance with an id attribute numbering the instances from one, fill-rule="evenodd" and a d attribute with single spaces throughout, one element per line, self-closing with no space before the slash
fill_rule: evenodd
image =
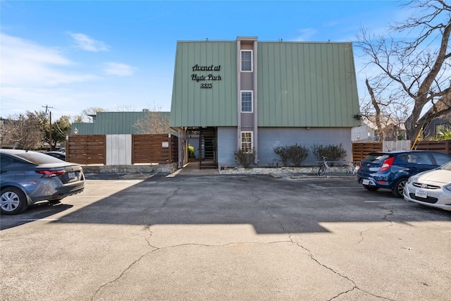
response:
<path id="1" fill-rule="evenodd" d="M 178 161 L 178 137 L 168 134 L 132 135 L 132 164 Z"/>

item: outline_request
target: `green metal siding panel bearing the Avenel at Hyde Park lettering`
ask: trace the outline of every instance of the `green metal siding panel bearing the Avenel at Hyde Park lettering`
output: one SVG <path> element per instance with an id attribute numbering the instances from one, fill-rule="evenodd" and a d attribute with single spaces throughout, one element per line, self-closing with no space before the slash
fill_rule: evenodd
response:
<path id="1" fill-rule="evenodd" d="M 171 127 L 237 125 L 236 42 L 178 42 L 171 102 Z M 221 66 L 219 71 L 193 66 Z M 192 75 L 221 80 L 192 80 Z M 212 84 L 202 89 L 201 84 Z"/>

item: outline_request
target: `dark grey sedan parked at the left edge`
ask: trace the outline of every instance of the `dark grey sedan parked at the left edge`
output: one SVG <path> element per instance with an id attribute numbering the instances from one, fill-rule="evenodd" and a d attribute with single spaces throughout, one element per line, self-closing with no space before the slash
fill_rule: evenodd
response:
<path id="1" fill-rule="evenodd" d="M 29 205 L 58 202 L 85 189 L 82 166 L 22 149 L 0 149 L 1 214 L 19 214 Z"/>

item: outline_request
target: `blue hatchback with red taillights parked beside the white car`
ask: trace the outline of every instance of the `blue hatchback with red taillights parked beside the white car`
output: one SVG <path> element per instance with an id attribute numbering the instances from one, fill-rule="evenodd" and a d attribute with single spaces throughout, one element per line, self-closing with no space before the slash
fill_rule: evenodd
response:
<path id="1" fill-rule="evenodd" d="M 451 161 L 451 156 L 431 151 L 372 152 L 360 162 L 357 178 L 366 190 L 392 190 L 403 197 L 404 185 L 410 176 L 437 168 Z"/>

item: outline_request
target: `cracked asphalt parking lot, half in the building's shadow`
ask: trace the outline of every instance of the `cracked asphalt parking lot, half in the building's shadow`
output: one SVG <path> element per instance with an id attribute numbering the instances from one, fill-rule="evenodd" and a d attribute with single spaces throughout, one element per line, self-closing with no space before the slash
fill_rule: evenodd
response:
<path id="1" fill-rule="evenodd" d="M 1 300 L 451 300 L 451 213 L 354 177 L 94 178 L 1 216 Z"/>

